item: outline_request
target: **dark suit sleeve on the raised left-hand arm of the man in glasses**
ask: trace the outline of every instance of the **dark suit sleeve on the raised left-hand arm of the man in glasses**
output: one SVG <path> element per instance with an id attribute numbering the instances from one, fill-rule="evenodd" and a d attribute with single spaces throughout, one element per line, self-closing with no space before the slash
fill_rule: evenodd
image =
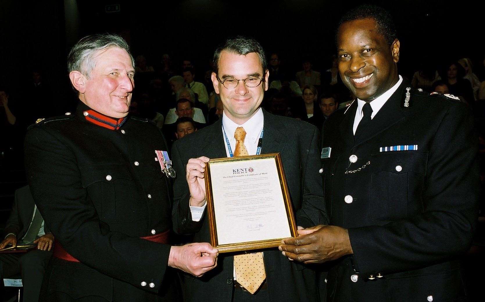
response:
<path id="1" fill-rule="evenodd" d="M 204 214 L 202 214 L 202 218 L 199 221 L 194 221 L 192 219 L 189 202 L 189 185 L 185 178 L 185 166 L 187 165 L 187 162 L 184 162 L 180 156 L 177 141 L 172 146 L 172 159 L 173 168 L 177 174 L 174 183 L 174 207 L 172 211 L 173 228 L 174 231 L 180 235 L 195 234 L 202 227 Z"/>

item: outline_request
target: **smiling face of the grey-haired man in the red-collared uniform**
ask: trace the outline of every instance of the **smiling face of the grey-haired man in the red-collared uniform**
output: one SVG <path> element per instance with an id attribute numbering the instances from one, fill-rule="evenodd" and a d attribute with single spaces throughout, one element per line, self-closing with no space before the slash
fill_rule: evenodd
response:
<path id="1" fill-rule="evenodd" d="M 111 47 L 94 55 L 96 64 L 89 78 L 83 77 L 80 99 L 90 108 L 114 118 L 128 114 L 135 74 L 125 49 Z"/>

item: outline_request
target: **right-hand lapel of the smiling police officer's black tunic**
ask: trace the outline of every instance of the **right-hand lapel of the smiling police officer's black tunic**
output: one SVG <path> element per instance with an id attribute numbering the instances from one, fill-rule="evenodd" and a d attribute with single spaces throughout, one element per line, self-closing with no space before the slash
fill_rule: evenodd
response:
<path id="1" fill-rule="evenodd" d="M 399 103 L 403 99 L 404 86 L 406 86 L 406 83 L 403 81 L 374 118 L 372 118 L 365 131 L 356 138 L 355 146 L 372 139 L 388 127 L 404 120 L 405 116 L 399 107 Z"/>

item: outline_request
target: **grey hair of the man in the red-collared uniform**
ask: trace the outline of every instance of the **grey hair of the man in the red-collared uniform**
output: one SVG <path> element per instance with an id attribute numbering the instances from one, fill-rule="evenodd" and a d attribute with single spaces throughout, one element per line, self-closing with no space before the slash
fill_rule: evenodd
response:
<path id="1" fill-rule="evenodd" d="M 112 47 L 125 49 L 131 58 L 131 64 L 135 67 L 135 60 L 129 52 L 128 43 L 122 37 L 111 33 L 98 33 L 85 36 L 71 49 L 67 56 L 69 72 L 77 70 L 89 78 L 96 65 L 96 61 L 93 60 L 94 55 L 101 49 Z"/>

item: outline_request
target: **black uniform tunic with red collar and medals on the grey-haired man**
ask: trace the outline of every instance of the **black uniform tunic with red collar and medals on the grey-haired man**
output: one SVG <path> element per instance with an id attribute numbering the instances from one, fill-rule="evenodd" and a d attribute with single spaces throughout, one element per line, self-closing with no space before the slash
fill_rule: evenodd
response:
<path id="1" fill-rule="evenodd" d="M 103 116 L 88 111 L 80 103 L 75 114 L 41 121 L 25 141 L 35 203 L 56 243 L 80 261 L 53 257 L 41 300 L 164 301 L 170 245 L 141 238 L 171 225 L 170 181 L 155 160 L 163 136 L 133 117 L 105 117 L 120 123 L 102 127 Z"/>

